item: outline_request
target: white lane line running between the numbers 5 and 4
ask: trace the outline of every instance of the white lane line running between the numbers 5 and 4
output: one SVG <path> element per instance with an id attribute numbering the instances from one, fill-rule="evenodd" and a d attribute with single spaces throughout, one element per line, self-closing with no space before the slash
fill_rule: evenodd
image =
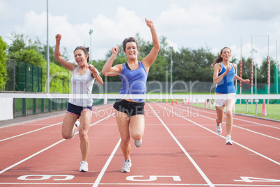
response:
<path id="1" fill-rule="evenodd" d="M 150 106 L 150 104 L 148 104 L 148 106 Z M 155 113 L 155 110 L 153 109 L 152 106 L 150 106 L 150 108 L 153 110 L 153 112 Z M 166 126 L 166 124 L 162 121 L 162 119 L 160 118 L 159 115 L 157 115 L 157 113 L 155 113 L 155 115 L 157 116 L 157 118 L 160 120 L 160 122 L 162 122 L 163 126 L 165 127 L 165 129 L 169 132 L 169 134 L 171 135 L 171 137 L 175 140 L 175 142 L 178 144 L 178 146 L 180 147 L 180 149 L 182 149 L 182 152 L 185 153 L 185 155 L 187 156 L 187 158 L 189 158 L 189 161 L 192 162 L 192 164 L 194 165 L 194 167 L 196 168 L 196 170 L 199 172 L 199 174 L 201 174 L 201 177 L 203 177 L 203 179 L 207 182 L 207 184 L 209 186 L 215 187 L 212 182 L 208 179 L 208 177 L 204 174 L 204 172 L 201 170 L 201 168 L 199 168 L 199 165 L 196 164 L 196 162 L 194 161 L 194 159 L 192 158 L 192 156 L 190 156 L 187 151 L 185 150 L 184 147 L 182 147 L 182 145 L 180 144 L 180 142 L 177 140 L 177 138 L 173 135 L 173 133 L 170 131 L 170 129 Z"/>

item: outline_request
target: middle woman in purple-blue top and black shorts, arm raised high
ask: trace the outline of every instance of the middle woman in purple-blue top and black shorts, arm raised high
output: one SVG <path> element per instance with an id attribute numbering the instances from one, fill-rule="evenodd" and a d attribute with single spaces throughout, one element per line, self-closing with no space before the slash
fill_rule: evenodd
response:
<path id="1" fill-rule="evenodd" d="M 139 44 L 135 38 L 126 38 L 123 41 L 123 51 L 127 56 L 127 63 L 118 64 L 112 67 L 114 58 L 118 54 L 119 47 L 112 49 L 111 57 L 105 63 L 102 74 L 104 76 L 120 76 L 123 87 L 120 94 L 145 94 L 146 81 L 150 66 L 153 65 L 157 53 L 160 50 L 160 40 L 157 37 L 155 26 L 152 21 L 146 19 L 146 25 L 150 28 L 153 38 L 153 49 L 150 54 L 141 62 L 137 59 Z M 145 128 L 144 120 L 144 99 L 117 99 L 114 108 L 116 109 L 116 122 L 120 132 L 120 149 L 123 152 L 125 162 L 121 172 L 130 172 L 132 165 L 130 159 L 130 132 L 134 145 L 140 147 Z"/>

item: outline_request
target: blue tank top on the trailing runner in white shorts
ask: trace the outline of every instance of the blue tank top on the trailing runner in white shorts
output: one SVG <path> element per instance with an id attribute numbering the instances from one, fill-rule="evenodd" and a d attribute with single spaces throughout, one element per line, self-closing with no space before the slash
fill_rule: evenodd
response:
<path id="1" fill-rule="evenodd" d="M 219 72 L 219 76 L 226 72 L 226 67 L 222 63 L 219 63 L 221 65 L 221 72 Z M 235 76 L 235 70 L 233 68 L 233 65 L 231 64 L 231 70 L 224 76 L 219 83 L 217 83 L 216 92 L 221 94 L 228 94 L 228 93 L 235 93 L 235 86 L 234 86 L 234 79 Z"/>

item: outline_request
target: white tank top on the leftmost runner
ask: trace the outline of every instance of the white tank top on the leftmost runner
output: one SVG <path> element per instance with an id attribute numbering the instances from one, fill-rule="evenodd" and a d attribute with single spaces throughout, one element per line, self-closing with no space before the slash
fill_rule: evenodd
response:
<path id="1" fill-rule="evenodd" d="M 77 106 L 92 106 L 93 99 L 88 97 L 93 90 L 94 78 L 91 76 L 91 71 L 87 70 L 85 74 L 77 75 L 79 66 L 72 73 L 71 83 L 73 98 L 69 98 L 69 103 Z M 77 94 L 77 95 L 76 95 Z M 86 96 L 85 96 L 86 95 Z"/>

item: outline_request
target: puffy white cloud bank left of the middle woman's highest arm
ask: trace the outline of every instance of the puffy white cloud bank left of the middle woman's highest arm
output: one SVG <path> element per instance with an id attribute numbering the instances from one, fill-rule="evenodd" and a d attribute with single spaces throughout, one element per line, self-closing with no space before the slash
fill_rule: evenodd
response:
<path id="1" fill-rule="evenodd" d="M 43 43 L 47 42 L 47 13 L 37 14 L 30 11 L 24 15 L 24 24 L 15 26 L 16 33 L 23 33 L 35 40 L 36 37 Z M 102 14 L 93 18 L 91 24 L 70 24 L 68 15 L 54 16 L 49 14 L 49 45 L 55 45 L 55 35 L 62 34 L 61 47 L 66 47 L 69 57 L 72 58 L 72 51 L 77 46 L 90 47 L 90 35 L 92 33 L 93 59 L 102 59 L 104 55 L 116 44 L 121 44 L 125 38 L 135 36 L 140 33 L 141 38 L 150 37 L 150 29 L 145 24 L 145 20 L 140 20 L 134 11 L 118 7 L 114 19 Z M 148 35 L 149 34 L 149 35 Z"/>

